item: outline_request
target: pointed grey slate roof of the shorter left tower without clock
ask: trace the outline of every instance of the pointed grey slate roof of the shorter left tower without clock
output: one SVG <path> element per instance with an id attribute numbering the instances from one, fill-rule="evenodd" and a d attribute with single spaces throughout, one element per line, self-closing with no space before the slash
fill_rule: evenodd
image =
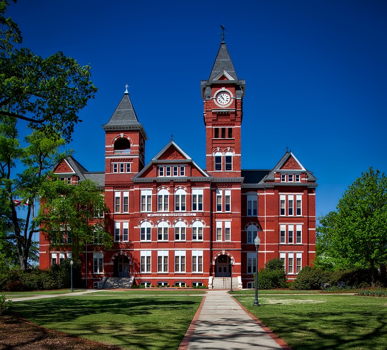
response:
<path id="1" fill-rule="evenodd" d="M 102 125 L 104 130 L 115 129 L 135 129 L 141 130 L 143 137 L 147 140 L 147 134 L 145 133 L 143 125 L 138 121 L 136 112 L 129 98 L 128 90 L 125 91 L 120 103 L 115 109 L 108 123 Z"/>

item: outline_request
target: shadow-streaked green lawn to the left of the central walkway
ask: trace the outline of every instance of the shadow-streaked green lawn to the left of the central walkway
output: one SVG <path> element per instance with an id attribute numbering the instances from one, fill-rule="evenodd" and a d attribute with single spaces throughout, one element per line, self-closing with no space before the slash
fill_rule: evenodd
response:
<path id="1" fill-rule="evenodd" d="M 46 328 L 130 350 L 177 349 L 201 296 L 111 295 L 15 302 L 11 310 Z"/>

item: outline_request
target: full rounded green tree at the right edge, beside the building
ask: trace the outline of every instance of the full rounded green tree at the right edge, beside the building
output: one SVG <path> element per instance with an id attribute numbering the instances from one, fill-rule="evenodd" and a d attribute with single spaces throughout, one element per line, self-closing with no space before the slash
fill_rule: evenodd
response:
<path id="1" fill-rule="evenodd" d="M 344 267 L 370 268 L 374 285 L 376 266 L 387 262 L 386 175 L 369 168 L 348 187 L 336 208 L 336 213 L 323 217 L 322 246 Z"/>

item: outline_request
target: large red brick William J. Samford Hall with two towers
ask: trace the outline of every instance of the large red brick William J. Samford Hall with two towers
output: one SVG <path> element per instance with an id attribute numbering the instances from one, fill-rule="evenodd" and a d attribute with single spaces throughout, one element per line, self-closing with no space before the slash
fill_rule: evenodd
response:
<path id="1" fill-rule="evenodd" d="M 312 263 L 316 178 L 292 152 L 273 169 L 241 169 L 245 81 L 224 42 L 201 88 L 205 170 L 173 140 L 145 163 L 147 134 L 128 90 L 103 125 L 105 171 L 87 172 L 73 157 L 56 166 L 55 173 L 68 182 L 91 178 L 105 190 L 114 245 L 105 251 L 89 245 L 82 255 L 89 287 L 103 277 L 223 287 L 231 270 L 234 287 L 252 287 L 257 234 L 259 266 L 280 258 L 293 280 Z M 52 251 L 41 235 L 40 267 L 71 258 L 70 248 Z"/>

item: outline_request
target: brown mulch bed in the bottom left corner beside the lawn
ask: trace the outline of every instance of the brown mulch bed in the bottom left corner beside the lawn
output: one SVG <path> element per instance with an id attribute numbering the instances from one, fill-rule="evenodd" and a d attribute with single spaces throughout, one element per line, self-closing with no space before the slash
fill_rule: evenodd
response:
<path id="1" fill-rule="evenodd" d="M 14 315 L 0 316 L 0 350 L 121 350 L 49 330 Z"/>

